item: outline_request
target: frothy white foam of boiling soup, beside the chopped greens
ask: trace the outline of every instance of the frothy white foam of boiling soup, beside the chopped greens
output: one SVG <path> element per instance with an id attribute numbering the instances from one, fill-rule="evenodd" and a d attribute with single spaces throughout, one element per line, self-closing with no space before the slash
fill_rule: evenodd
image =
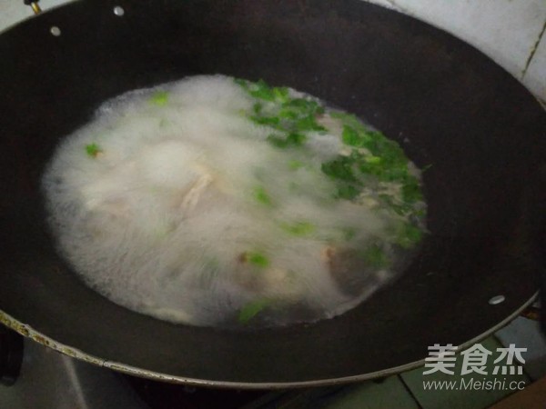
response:
<path id="1" fill-rule="evenodd" d="M 63 140 L 45 196 L 59 251 L 87 284 L 177 323 L 235 323 L 245 305 L 269 300 L 279 306 L 264 322 L 289 324 L 340 314 L 389 279 L 367 273 L 349 294 L 325 257 L 388 224 L 332 200 L 320 164 L 338 155 L 339 135 L 311 136 L 305 155 L 278 149 L 241 115 L 252 105 L 230 77 L 189 77 L 109 101 Z M 290 165 L 302 158 L 307 166 Z M 349 228 L 354 237 L 342 238 Z"/>

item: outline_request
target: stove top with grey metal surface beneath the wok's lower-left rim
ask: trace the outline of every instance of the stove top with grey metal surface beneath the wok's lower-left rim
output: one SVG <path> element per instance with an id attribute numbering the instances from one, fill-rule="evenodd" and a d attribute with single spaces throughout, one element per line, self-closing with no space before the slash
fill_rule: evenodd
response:
<path id="1" fill-rule="evenodd" d="M 0 325 L 0 407 L 231 409 L 267 394 L 195 388 L 118 374 L 46 348 Z"/>

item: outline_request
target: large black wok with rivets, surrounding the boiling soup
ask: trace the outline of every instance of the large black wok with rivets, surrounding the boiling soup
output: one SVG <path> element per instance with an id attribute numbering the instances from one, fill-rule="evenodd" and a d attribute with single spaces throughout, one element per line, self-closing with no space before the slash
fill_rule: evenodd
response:
<path id="1" fill-rule="evenodd" d="M 357 0 L 86 0 L 0 35 L 0 56 L 2 322 L 61 352 L 174 382 L 358 380 L 419 364 L 431 344 L 468 345 L 537 291 L 546 115 L 429 25 Z M 431 165 L 430 234 L 398 281 L 332 320 L 230 332 L 133 313 L 69 270 L 39 191 L 56 145 L 107 98 L 212 73 L 317 95 Z M 489 304 L 496 295 L 505 301 Z"/>

